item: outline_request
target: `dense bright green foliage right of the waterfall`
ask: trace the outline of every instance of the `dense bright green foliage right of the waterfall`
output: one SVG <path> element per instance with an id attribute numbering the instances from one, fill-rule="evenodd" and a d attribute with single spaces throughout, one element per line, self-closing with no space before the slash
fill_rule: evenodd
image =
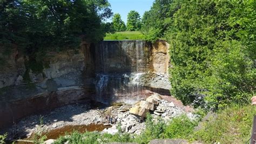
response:
<path id="1" fill-rule="evenodd" d="M 171 93 L 185 104 L 245 104 L 255 92 L 255 1 L 161 1 L 143 16 L 147 39 L 170 43 Z M 150 26 L 150 28 L 148 28 Z"/>

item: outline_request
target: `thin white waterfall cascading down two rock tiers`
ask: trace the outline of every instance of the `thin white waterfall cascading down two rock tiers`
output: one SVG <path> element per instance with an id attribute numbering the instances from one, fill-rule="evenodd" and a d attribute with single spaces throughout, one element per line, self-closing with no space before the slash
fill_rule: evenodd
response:
<path id="1" fill-rule="evenodd" d="M 150 68 L 149 57 L 144 40 L 100 42 L 96 46 L 96 72 L 100 76 L 96 80 L 96 99 L 101 102 L 107 98 L 117 101 L 114 96 L 139 99 L 143 94 L 140 78 Z"/>

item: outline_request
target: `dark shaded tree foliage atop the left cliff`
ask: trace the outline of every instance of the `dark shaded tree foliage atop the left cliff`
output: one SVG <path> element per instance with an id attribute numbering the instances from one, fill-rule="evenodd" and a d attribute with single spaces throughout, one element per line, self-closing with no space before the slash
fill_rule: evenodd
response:
<path id="1" fill-rule="evenodd" d="M 17 45 L 38 58 L 47 50 L 75 49 L 81 40 L 103 39 L 112 16 L 106 0 L 4 0 L 0 2 L 0 44 Z"/>

